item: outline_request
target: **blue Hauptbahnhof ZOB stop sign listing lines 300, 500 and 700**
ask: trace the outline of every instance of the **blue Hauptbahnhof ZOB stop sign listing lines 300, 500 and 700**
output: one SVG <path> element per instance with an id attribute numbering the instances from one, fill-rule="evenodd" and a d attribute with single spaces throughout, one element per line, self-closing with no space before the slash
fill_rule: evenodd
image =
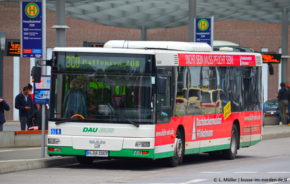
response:
<path id="1" fill-rule="evenodd" d="M 42 2 L 21 2 L 21 57 L 42 57 Z"/>

